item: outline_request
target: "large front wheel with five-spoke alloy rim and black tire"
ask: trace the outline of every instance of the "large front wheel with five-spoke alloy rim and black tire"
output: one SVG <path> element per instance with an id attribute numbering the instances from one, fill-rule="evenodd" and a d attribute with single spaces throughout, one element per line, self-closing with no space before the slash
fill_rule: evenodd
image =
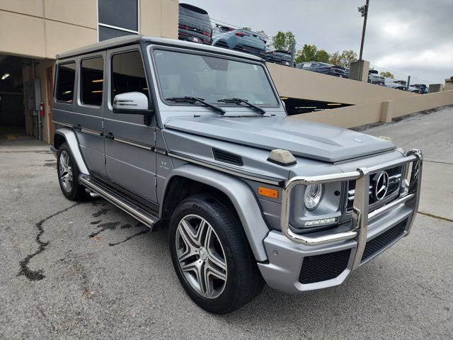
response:
<path id="1" fill-rule="evenodd" d="M 260 293 L 264 280 L 239 218 L 215 196 L 183 200 L 173 212 L 168 233 L 180 283 L 204 310 L 234 312 Z"/>

